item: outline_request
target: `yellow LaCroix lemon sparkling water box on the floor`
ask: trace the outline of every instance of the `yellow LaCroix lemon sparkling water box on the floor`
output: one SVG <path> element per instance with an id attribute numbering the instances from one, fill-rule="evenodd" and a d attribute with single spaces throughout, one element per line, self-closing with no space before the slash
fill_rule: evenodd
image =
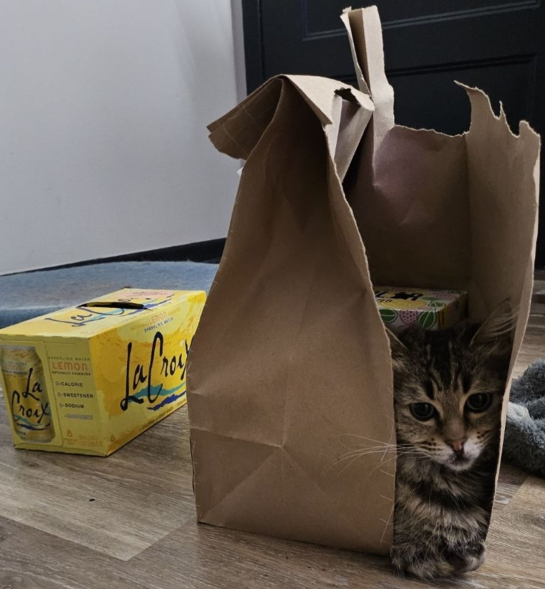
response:
<path id="1" fill-rule="evenodd" d="M 0 330 L 15 446 L 107 456 L 184 405 L 205 299 L 122 289 Z"/>

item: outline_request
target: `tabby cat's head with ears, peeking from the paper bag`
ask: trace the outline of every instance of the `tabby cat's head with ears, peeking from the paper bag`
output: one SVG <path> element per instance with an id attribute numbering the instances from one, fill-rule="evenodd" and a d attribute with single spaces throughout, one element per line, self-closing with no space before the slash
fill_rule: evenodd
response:
<path id="1" fill-rule="evenodd" d="M 463 471 L 497 444 L 511 353 L 511 329 L 500 315 L 482 326 L 414 327 L 390 337 L 400 452 Z"/>

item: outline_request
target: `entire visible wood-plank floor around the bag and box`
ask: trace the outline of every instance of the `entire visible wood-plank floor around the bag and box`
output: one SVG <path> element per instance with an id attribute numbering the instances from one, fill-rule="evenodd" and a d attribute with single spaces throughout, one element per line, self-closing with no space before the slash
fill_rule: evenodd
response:
<path id="1" fill-rule="evenodd" d="M 542 300 L 516 375 L 545 357 Z M 385 558 L 197 525 L 185 408 L 104 459 L 15 451 L 1 405 L 0 589 L 428 586 L 545 589 L 545 481 L 502 465 L 486 564 L 430 585 Z"/>

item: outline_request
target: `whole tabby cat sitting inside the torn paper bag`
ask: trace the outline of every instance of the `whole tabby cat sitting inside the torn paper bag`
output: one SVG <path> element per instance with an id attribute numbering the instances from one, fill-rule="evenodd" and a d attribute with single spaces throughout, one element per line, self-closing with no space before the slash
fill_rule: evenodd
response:
<path id="1" fill-rule="evenodd" d="M 390 334 L 398 573 L 444 577 L 484 560 L 513 315 L 503 303 L 482 325 Z"/>

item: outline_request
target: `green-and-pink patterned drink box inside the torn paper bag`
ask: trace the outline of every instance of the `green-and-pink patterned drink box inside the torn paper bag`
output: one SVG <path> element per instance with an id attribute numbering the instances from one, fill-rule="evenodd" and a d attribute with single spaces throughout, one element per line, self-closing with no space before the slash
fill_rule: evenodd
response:
<path id="1" fill-rule="evenodd" d="M 467 315 L 467 293 L 375 286 L 380 317 L 394 332 L 418 323 L 423 329 L 452 327 Z"/>

